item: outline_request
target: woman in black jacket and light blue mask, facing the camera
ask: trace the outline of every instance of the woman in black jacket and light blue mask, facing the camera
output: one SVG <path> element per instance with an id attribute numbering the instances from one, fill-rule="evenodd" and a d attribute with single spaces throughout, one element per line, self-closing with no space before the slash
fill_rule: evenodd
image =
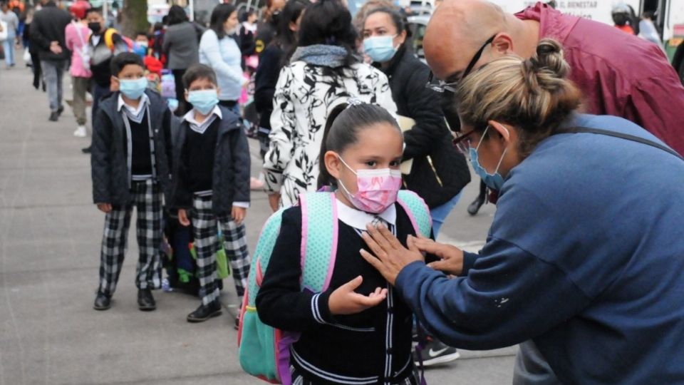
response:
<path id="1" fill-rule="evenodd" d="M 437 237 L 462 188 L 470 182 L 470 170 L 451 144 L 452 135 L 437 103 L 440 94 L 425 87 L 430 69 L 413 56 L 406 37 L 403 16 L 397 11 L 378 8 L 366 16 L 363 51 L 389 78 L 398 114 L 415 121 L 404 133 L 404 160 L 413 160 L 404 184 L 430 207 Z"/>

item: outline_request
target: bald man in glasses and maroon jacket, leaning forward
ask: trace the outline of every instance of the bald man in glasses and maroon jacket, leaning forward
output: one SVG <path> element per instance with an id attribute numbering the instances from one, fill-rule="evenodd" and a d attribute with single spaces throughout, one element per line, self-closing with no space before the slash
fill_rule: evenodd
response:
<path id="1" fill-rule="evenodd" d="M 684 153 L 684 88 L 655 44 L 546 4 L 506 14 L 480 0 L 445 0 L 427 25 L 423 48 L 437 79 L 452 87 L 484 63 L 510 53 L 529 58 L 539 39 L 564 46 L 569 78 L 587 113 L 632 120 Z M 449 86 L 447 86 L 447 89 Z"/>

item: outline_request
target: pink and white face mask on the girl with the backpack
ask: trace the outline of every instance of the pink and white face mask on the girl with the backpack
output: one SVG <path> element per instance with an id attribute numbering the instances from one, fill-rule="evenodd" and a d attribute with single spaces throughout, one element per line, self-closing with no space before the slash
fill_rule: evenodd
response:
<path id="1" fill-rule="evenodd" d="M 401 187 L 401 172 L 383 168 L 380 170 L 355 171 L 338 156 L 346 168 L 356 175 L 356 194 L 349 193 L 341 180 L 338 180 L 342 193 L 358 210 L 380 214 L 397 201 Z"/>

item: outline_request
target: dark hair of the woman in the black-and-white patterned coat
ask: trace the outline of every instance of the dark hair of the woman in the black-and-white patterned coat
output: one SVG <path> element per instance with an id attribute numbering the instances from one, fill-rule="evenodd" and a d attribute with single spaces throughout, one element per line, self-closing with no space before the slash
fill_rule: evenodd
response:
<path id="1" fill-rule="evenodd" d="M 304 12 L 299 26 L 298 46 L 326 44 L 341 46 L 347 51 L 344 66 L 358 61 L 356 29 L 351 25 L 351 14 L 340 0 L 320 0 Z"/>

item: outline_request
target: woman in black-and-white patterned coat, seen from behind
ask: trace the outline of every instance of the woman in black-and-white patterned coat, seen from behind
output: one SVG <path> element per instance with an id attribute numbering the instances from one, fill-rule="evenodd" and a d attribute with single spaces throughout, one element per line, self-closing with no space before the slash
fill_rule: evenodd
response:
<path id="1" fill-rule="evenodd" d="M 318 152 L 328 113 L 348 98 L 396 113 L 388 79 L 354 54 L 356 31 L 338 0 L 309 6 L 299 29 L 299 48 L 279 76 L 264 158 L 271 208 L 288 207 L 316 190 Z"/>

